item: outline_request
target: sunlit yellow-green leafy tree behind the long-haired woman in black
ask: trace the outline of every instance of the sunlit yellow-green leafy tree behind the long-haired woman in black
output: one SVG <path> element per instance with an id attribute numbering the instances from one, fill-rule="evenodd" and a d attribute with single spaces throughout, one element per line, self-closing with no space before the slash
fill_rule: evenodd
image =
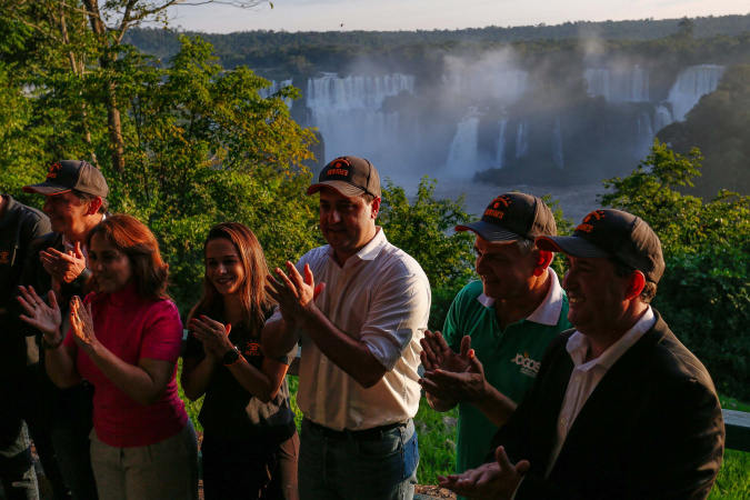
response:
<path id="1" fill-rule="evenodd" d="M 146 69 L 139 86 L 123 86 L 133 109 L 130 168 L 110 179 L 117 207 L 161 236 L 184 310 L 200 291 L 213 224 L 246 223 L 272 263 L 296 260 L 316 239 L 313 201 L 302 194 L 313 137 L 284 103 L 296 89 L 261 99 L 268 81 L 247 68 L 222 72 L 200 39 L 181 42 L 167 70 Z"/>

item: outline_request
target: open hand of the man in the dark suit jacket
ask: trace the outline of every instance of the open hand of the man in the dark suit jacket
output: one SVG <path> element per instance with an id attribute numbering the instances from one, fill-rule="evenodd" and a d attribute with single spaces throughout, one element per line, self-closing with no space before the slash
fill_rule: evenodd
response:
<path id="1" fill-rule="evenodd" d="M 484 463 L 462 474 L 438 476 L 438 483 L 441 488 L 473 499 L 512 498 L 523 474 L 529 470 L 529 462 L 521 460 L 513 466 L 503 447 L 494 451 L 494 462 Z"/>

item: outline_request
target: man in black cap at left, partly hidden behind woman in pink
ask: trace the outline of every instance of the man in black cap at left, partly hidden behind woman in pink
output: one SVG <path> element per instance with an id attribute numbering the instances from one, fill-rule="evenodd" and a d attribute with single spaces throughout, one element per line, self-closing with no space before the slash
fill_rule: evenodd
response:
<path id="1" fill-rule="evenodd" d="M 102 173 L 92 164 L 63 160 L 50 167 L 43 182 L 26 186 L 23 191 L 46 197 L 43 211 L 50 219 L 52 232 L 31 242 L 20 284 L 32 287 L 43 299 L 47 299 L 50 290 L 54 291 L 66 320 L 61 328 L 64 336 L 69 328 L 70 299 L 86 294 L 84 287 L 91 270 L 84 242 L 89 231 L 107 214 L 109 187 Z M 44 356 L 39 356 L 40 348 L 53 346 L 46 346 L 34 328 L 20 321 L 24 312 L 18 302 L 10 302 L 8 312 L 9 317 L 12 316 L 17 331 L 27 337 L 37 336 L 37 351 L 29 356 L 36 358 L 38 368 L 29 372 L 23 383 L 29 388 L 29 411 L 34 413 L 37 420 L 33 427 L 29 427 L 31 437 L 40 450 L 40 457 L 44 453 L 48 462 L 50 457 L 57 459 L 69 490 L 62 491 L 56 484 L 56 500 L 70 497 L 97 499 L 89 450 L 93 388 L 88 382 L 70 389 L 57 388 L 47 374 Z M 47 472 L 44 461 L 42 467 Z"/>

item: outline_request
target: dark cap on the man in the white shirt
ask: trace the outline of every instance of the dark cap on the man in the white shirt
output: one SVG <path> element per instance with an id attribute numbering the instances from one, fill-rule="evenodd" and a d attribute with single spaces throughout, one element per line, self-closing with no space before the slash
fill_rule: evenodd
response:
<path id="1" fill-rule="evenodd" d="M 326 186 L 347 198 L 366 192 L 380 198 L 380 174 L 364 158 L 339 157 L 331 161 L 320 171 L 318 182 L 308 188 L 308 194 L 314 194 Z"/>

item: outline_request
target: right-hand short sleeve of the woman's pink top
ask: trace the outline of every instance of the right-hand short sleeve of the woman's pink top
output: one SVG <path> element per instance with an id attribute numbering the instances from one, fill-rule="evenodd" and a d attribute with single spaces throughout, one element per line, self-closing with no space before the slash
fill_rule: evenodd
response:
<path id="1" fill-rule="evenodd" d="M 182 348 L 182 321 L 171 300 L 151 306 L 150 317 L 143 329 L 140 358 L 177 362 Z"/>

